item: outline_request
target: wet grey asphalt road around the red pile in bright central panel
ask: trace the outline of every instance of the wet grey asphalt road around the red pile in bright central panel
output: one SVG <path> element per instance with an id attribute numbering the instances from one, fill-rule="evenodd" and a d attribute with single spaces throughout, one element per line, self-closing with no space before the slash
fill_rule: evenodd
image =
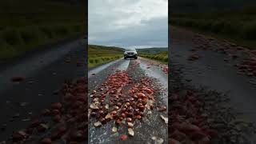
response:
<path id="1" fill-rule="evenodd" d="M 133 69 L 134 62 L 139 62 L 137 69 Z M 150 61 L 145 58 L 138 58 L 138 60 L 118 59 L 114 62 L 98 66 L 88 73 L 88 90 L 89 94 L 104 82 L 109 74 L 114 74 L 115 70 L 126 70 L 129 76 L 133 79 L 139 79 L 143 76 L 154 78 L 154 82 L 159 87 L 158 98 L 156 98 L 156 105 L 168 105 L 167 101 L 167 87 L 168 77 L 167 74 L 162 72 L 161 68 L 156 64 L 150 65 Z M 150 65 L 148 69 L 147 66 Z M 89 101 L 90 102 L 90 101 Z M 126 128 L 121 129 L 118 133 L 111 131 L 114 126 L 113 122 L 108 122 L 100 128 L 93 126 L 94 118 L 90 118 L 88 142 L 90 143 L 154 143 L 152 137 L 162 138 L 163 143 L 167 143 L 168 130 L 166 123 L 160 118 L 160 114 L 167 117 L 166 112 L 158 112 L 153 110 L 152 114 L 146 114 L 142 121 L 134 123 L 134 137 L 129 137 L 126 141 L 121 141 L 120 136 L 127 134 Z M 119 130 L 119 129 L 118 129 Z"/>

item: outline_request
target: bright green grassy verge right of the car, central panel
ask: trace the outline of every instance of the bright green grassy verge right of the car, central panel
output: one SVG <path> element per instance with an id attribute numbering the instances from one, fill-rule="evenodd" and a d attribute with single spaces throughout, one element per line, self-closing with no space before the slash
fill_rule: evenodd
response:
<path id="1" fill-rule="evenodd" d="M 168 64 L 168 52 L 164 51 L 158 54 L 139 54 L 143 58 L 150 58 L 164 64 Z"/>

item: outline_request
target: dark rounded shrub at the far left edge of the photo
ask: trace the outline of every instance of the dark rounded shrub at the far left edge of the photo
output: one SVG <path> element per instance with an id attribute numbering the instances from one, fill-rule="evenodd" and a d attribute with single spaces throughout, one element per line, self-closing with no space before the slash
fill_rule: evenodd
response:
<path id="1" fill-rule="evenodd" d="M 1 38 L 11 46 L 20 45 L 23 43 L 19 31 L 13 28 L 3 30 Z"/>

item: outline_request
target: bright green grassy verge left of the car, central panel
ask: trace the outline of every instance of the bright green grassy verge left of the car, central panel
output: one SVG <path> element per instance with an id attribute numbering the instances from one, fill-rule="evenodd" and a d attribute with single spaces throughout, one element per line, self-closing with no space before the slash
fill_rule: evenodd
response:
<path id="1" fill-rule="evenodd" d="M 122 53 L 122 48 L 118 47 L 89 45 L 88 68 L 90 69 L 106 62 L 122 58 Z"/>

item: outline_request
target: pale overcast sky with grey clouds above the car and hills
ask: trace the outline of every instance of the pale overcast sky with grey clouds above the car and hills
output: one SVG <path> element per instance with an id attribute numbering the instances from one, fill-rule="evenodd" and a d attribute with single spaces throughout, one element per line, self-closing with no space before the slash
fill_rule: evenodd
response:
<path id="1" fill-rule="evenodd" d="M 167 47 L 168 0 L 89 0 L 89 44 Z"/>

